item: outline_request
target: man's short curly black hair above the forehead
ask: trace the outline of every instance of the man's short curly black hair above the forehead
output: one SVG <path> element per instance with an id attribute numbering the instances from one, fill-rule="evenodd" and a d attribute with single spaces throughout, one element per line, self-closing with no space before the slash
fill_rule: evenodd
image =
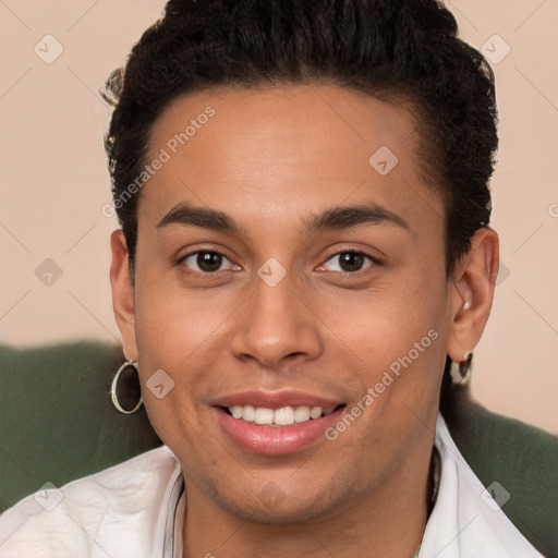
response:
<path id="1" fill-rule="evenodd" d="M 446 209 L 449 277 L 489 221 L 498 118 L 494 73 L 440 2 L 170 0 L 102 92 L 114 106 L 105 148 L 133 282 L 141 191 L 122 195 L 170 101 L 214 87 L 313 83 L 414 108 L 423 172 Z"/>

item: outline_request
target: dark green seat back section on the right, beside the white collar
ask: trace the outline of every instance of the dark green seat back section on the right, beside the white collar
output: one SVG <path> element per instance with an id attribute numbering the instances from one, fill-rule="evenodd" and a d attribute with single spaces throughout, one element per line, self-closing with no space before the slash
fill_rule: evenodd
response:
<path id="1" fill-rule="evenodd" d="M 488 411 L 465 390 L 449 396 L 440 410 L 463 460 L 483 488 L 509 494 L 504 513 L 543 555 L 558 558 L 558 437 Z"/>

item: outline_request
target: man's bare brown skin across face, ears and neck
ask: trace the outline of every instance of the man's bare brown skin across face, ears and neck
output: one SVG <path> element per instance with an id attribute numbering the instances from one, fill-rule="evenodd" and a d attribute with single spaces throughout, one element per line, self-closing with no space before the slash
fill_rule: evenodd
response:
<path id="1" fill-rule="evenodd" d="M 111 236 L 125 355 L 138 361 L 143 385 L 160 368 L 174 381 L 162 399 L 143 393 L 184 473 L 184 551 L 412 557 L 445 359 L 463 360 L 483 332 L 497 234 L 477 231 L 447 279 L 444 206 L 421 178 L 421 138 L 401 102 L 329 85 L 201 92 L 167 107 L 147 160 L 207 106 L 215 116 L 141 193 L 135 290 L 122 232 Z M 381 145 L 399 159 L 384 177 L 368 162 Z M 180 202 L 226 211 L 242 231 L 158 228 Z M 359 203 L 408 228 L 304 232 L 313 214 Z M 218 271 L 180 260 L 211 248 L 226 254 Z M 351 250 L 379 263 L 343 272 L 339 253 Z M 275 287 L 257 275 L 269 257 L 287 271 Z M 432 329 L 437 340 L 335 441 L 254 454 L 215 420 L 211 400 L 248 389 L 308 391 L 350 409 Z"/>

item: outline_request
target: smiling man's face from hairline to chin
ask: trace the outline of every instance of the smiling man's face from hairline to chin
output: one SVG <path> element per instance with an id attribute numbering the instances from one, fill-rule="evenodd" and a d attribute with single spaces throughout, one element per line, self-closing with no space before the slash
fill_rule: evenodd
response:
<path id="1" fill-rule="evenodd" d="M 420 141 L 402 105 L 325 85 L 198 93 L 155 123 L 114 304 L 189 498 L 325 518 L 432 449 L 462 300 Z"/>

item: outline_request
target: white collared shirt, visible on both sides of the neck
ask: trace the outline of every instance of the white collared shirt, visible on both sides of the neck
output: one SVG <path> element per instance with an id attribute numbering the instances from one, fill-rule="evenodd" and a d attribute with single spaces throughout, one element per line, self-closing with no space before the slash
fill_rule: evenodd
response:
<path id="1" fill-rule="evenodd" d="M 435 445 L 441 457 L 440 486 L 418 557 L 542 557 L 504 511 L 483 499 L 484 486 L 441 416 Z M 39 492 L 0 515 L 0 556 L 180 557 L 185 512 L 179 462 L 163 446 L 60 490 Z"/>

